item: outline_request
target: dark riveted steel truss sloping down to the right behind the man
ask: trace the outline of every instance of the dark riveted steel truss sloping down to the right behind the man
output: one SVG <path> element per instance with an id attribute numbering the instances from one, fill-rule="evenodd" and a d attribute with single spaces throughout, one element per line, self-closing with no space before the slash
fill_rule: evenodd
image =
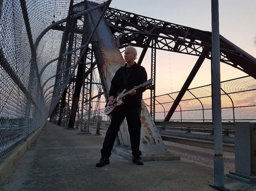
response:
<path id="1" fill-rule="evenodd" d="M 138 60 L 139 64 L 142 62 L 147 49 L 151 48 L 151 77 L 153 78 L 154 83 L 156 49 L 199 57 L 193 71 L 189 74 L 189 78 L 186 80 L 178 99 L 166 116 L 165 120 L 168 121 L 179 104 L 179 100 L 183 97 L 184 92 L 195 77 L 203 60 L 205 58 L 211 59 L 211 32 L 193 29 L 113 8 L 107 9 L 105 12 L 105 20 L 107 21 L 113 37 L 116 40 L 116 45 L 119 48 L 124 48 L 128 45 L 143 48 L 142 54 Z M 56 26 L 55 29 L 64 31 L 65 27 Z M 83 29 L 79 27 L 76 27 L 73 31 L 75 31 L 75 34 L 83 34 Z M 222 36 L 220 36 L 220 60 L 223 63 L 244 71 L 256 79 L 256 73 L 254 72 L 256 71 L 256 59 Z M 153 118 L 155 105 L 154 86 L 151 90 L 151 115 Z"/>

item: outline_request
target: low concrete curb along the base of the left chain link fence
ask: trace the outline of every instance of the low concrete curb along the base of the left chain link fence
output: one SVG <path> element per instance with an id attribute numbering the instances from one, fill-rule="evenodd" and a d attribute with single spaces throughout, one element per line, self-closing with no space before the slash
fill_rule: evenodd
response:
<path id="1" fill-rule="evenodd" d="M 27 137 L 26 140 L 19 143 L 8 154 L 0 158 L 0 184 L 2 184 L 6 180 L 15 165 L 17 165 L 17 162 L 20 160 L 26 150 L 30 148 L 30 146 L 35 141 L 36 137 L 38 137 L 45 125 L 46 123 L 38 128 L 29 137 Z"/>

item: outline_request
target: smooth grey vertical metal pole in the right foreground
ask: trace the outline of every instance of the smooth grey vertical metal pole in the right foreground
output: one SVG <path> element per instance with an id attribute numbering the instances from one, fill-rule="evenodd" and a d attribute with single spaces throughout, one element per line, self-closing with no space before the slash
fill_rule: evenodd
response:
<path id="1" fill-rule="evenodd" d="M 212 119 L 214 128 L 214 186 L 224 187 L 221 126 L 221 78 L 218 0 L 212 0 Z"/>

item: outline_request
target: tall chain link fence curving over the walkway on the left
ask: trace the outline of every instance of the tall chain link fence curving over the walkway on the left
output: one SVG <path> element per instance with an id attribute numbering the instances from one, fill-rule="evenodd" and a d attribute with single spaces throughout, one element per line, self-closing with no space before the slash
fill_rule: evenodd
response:
<path id="1" fill-rule="evenodd" d="M 0 157 L 46 123 L 110 3 L 0 0 Z"/>

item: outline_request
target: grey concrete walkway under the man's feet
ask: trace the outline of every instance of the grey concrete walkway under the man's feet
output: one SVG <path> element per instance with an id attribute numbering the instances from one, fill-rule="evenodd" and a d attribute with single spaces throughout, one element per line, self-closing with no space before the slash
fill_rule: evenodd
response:
<path id="1" fill-rule="evenodd" d="M 0 191 L 215 191 L 213 169 L 188 160 L 145 161 L 143 166 L 112 154 L 95 167 L 104 136 L 77 134 L 47 123 Z M 230 178 L 225 186 L 256 191 Z"/>

